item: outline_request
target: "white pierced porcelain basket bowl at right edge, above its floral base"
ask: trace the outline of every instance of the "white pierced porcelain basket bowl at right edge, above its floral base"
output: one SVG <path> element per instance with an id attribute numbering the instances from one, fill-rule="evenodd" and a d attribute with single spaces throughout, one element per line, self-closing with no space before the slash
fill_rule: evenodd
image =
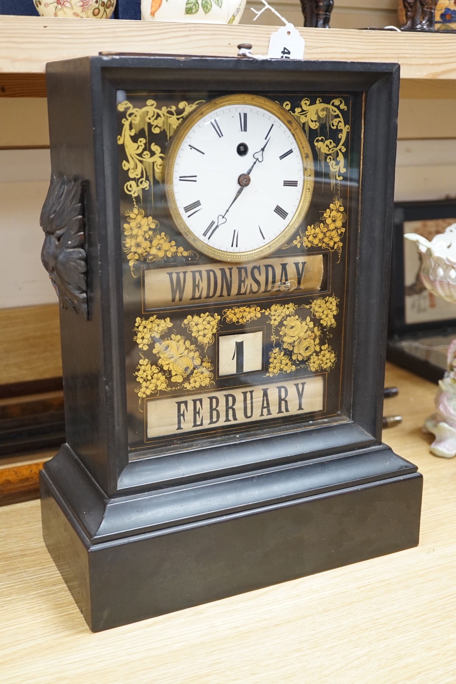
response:
<path id="1" fill-rule="evenodd" d="M 456 304 L 456 223 L 430 242 L 416 233 L 405 233 L 404 237 L 418 246 L 422 261 L 420 277 L 425 287 L 446 302 Z"/>

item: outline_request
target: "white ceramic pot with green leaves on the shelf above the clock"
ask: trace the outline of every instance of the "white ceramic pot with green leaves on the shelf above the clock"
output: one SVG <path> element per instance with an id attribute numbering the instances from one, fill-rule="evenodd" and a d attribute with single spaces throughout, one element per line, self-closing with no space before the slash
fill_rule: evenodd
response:
<path id="1" fill-rule="evenodd" d="M 144 21 L 239 24 L 247 0 L 141 0 Z"/>

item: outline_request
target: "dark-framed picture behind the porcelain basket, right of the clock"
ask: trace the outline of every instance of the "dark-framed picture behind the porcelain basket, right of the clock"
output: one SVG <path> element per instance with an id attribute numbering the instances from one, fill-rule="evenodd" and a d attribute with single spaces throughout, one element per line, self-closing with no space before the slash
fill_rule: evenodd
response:
<path id="1" fill-rule="evenodd" d="M 428 240 L 456 223 L 456 200 L 394 205 L 387 358 L 433 382 L 443 377 L 456 332 L 456 306 L 429 292 L 420 279 L 420 254 L 405 233 Z"/>

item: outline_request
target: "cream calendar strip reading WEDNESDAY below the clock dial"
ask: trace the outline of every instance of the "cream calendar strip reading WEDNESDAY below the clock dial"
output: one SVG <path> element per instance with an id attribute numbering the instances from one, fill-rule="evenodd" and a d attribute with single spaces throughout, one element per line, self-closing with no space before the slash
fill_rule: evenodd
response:
<path id="1" fill-rule="evenodd" d="M 325 255 L 327 257 L 327 255 Z M 326 260 L 325 260 L 326 263 Z M 316 292 L 323 280 L 323 255 L 263 259 L 243 266 L 224 263 L 185 265 L 177 269 L 146 267 L 146 309 L 270 297 L 278 292 Z"/>

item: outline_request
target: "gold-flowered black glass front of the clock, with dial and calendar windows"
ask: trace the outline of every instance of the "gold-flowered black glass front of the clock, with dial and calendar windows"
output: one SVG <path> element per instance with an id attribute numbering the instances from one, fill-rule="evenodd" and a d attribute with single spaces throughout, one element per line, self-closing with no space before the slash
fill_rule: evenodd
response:
<path id="1" fill-rule="evenodd" d="M 118 91 L 118 150 L 130 458 L 349 420 L 361 96 Z"/>

